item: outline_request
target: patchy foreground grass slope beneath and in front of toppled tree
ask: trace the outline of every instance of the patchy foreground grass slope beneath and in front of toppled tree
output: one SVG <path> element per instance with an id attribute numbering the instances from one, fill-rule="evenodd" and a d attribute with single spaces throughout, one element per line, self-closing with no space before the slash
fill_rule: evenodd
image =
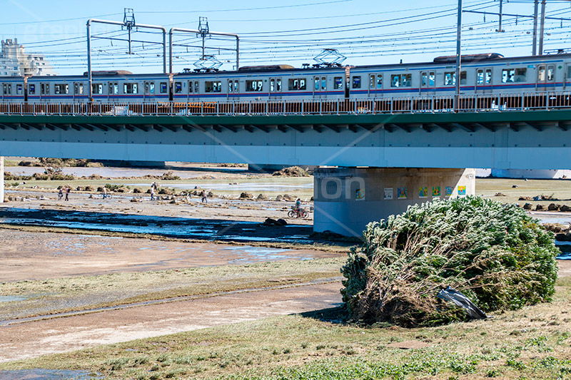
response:
<path id="1" fill-rule="evenodd" d="M 84 369 L 111 379 L 569 379 L 570 302 L 571 279 L 565 277 L 554 302 L 485 321 L 360 327 L 343 323 L 340 310 L 332 309 L 99 346 L 0 369 Z"/>

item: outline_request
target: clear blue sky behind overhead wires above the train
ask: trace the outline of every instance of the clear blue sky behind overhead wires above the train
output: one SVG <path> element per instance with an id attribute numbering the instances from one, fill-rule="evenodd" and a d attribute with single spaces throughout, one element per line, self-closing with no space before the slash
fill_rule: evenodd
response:
<path id="1" fill-rule="evenodd" d="M 497 0 L 464 0 L 465 9 L 497 12 Z M 457 0 L 283 0 L 261 1 L 16 1 L 1 0 L 0 36 L 18 38 L 26 51 L 44 53 L 62 74 L 86 69 L 86 20 L 123 20 L 123 8 L 133 8 L 140 24 L 198 27 L 198 17 L 208 17 L 211 31 L 241 35 L 241 66 L 314 63 L 322 48 L 337 48 L 345 64 L 431 61 L 455 53 Z M 512 0 L 504 12 L 531 15 L 531 0 Z M 571 1 L 548 0 L 550 16 L 571 19 Z M 532 21 L 505 16 L 497 33 L 497 16 L 464 14 L 463 52 L 531 53 Z M 571 47 L 571 21 L 547 22 L 545 48 Z M 136 73 L 161 71 L 161 36 L 139 30 L 133 33 L 133 52 L 126 54 L 126 31 L 95 25 L 94 68 L 128 69 Z M 110 39 L 114 38 L 114 39 Z M 175 71 L 194 68 L 201 41 L 193 34 L 175 36 Z M 231 69 L 234 40 L 210 38 L 207 53 Z"/>

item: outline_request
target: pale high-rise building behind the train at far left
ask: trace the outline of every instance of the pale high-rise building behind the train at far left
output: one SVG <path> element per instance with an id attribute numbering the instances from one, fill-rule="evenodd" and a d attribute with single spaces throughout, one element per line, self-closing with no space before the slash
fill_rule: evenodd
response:
<path id="1" fill-rule="evenodd" d="M 0 53 L 0 76 L 55 76 L 54 71 L 44 55 L 24 53 L 24 45 L 18 40 L 2 41 Z"/>

